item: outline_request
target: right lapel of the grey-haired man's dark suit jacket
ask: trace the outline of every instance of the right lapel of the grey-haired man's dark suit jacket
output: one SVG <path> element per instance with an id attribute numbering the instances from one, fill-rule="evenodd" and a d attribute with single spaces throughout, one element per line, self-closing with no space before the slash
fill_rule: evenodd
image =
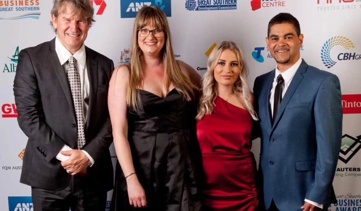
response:
<path id="1" fill-rule="evenodd" d="M 87 71 L 89 79 L 89 107 L 87 114 L 86 129 L 88 129 L 91 122 L 91 113 L 96 100 L 96 92 L 98 87 L 98 68 L 97 62 L 94 58 L 94 54 L 88 47 L 85 47 L 86 58 L 87 58 Z"/>

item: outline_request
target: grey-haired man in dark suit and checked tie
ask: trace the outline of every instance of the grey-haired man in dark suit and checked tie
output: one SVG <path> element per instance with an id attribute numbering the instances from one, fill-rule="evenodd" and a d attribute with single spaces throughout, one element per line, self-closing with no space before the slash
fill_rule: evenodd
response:
<path id="1" fill-rule="evenodd" d="M 56 38 L 19 53 L 18 123 L 29 138 L 20 182 L 36 211 L 104 211 L 113 188 L 108 82 L 113 61 L 84 45 L 88 0 L 54 0 Z"/>

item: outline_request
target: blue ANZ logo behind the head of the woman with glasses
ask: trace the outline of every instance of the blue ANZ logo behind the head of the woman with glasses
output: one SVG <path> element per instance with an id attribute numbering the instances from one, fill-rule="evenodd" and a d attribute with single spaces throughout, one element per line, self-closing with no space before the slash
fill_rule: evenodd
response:
<path id="1" fill-rule="evenodd" d="M 135 18 L 143 6 L 158 6 L 171 17 L 171 0 L 120 0 L 120 17 Z"/>

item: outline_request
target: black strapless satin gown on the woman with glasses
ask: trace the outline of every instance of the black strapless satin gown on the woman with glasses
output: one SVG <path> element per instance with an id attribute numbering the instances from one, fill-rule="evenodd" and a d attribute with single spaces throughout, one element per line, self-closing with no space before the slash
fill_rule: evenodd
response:
<path id="1" fill-rule="evenodd" d="M 110 210 L 195 211 L 199 193 L 188 151 L 195 102 L 176 89 L 165 98 L 141 89 L 143 109 L 128 108 L 128 141 L 135 172 L 147 198 L 147 208 L 129 204 L 127 183 L 117 162 Z"/>

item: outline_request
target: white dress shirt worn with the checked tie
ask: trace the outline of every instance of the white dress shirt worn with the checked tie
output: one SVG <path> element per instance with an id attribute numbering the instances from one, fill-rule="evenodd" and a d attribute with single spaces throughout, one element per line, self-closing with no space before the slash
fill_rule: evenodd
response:
<path id="1" fill-rule="evenodd" d="M 55 38 L 55 51 L 58 55 L 59 61 L 61 65 L 64 67 L 65 74 L 68 72 L 68 60 L 71 57 L 71 53 L 60 43 L 58 36 Z M 83 118 L 84 122 L 87 120 L 87 113 L 89 107 L 89 78 L 87 71 L 87 62 L 86 62 L 86 53 L 84 44 L 82 47 L 74 53 L 73 57 L 75 58 L 75 65 L 77 66 L 77 70 L 80 75 L 80 83 L 82 89 L 82 98 L 83 98 Z M 64 150 L 72 150 L 68 145 L 64 145 L 64 147 L 60 151 Z M 84 154 L 87 155 L 92 165 L 94 164 L 93 158 L 84 150 L 82 150 Z M 62 155 L 59 153 L 56 156 L 56 159 L 60 161 L 65 161 L 69 156 Z M 92 166 L 91 165 L 91 166 Z"/>

